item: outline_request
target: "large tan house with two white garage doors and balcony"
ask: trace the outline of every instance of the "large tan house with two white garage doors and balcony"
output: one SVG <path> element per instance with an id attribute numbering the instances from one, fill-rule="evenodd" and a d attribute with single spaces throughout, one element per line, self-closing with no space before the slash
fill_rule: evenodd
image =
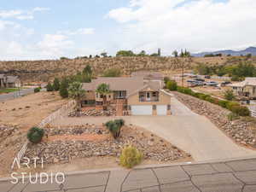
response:
<path id="1" fill-rule="evenodd" d="M 162 90 L 159 80 L 145 81 L 143 77 L 98 78 L 84 83 L 86 90 L 82 106 L 102 106 L 103 98 L 96 93 L 99 84 L 109 84 L 111 93 L 107 102 L 117 115 L 168 115 L 171 114 L 171 96 Z"/>

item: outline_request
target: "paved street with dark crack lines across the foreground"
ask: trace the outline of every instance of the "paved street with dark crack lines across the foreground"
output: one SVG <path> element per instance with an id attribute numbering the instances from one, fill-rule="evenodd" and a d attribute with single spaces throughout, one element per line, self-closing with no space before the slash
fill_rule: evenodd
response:
<path id="1" fill-rule="evenodd" d="M 253 192 L 256 159 L 121 168 L 66 174 L 64 183 L 17 184 L 0 179 L 1 192 Z M 32 181 L 34 181 L 32 179 Z"/>

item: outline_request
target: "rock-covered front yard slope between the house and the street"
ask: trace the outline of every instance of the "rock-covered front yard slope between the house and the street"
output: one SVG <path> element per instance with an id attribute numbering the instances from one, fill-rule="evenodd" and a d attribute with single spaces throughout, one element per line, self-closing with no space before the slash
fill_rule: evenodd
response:
<path id="1" fill-rule="evenodd" d="M 95 128 L 87 125 L 69 128 L 52 127 L 46 128 L 45 131 L 49 136 L 61 136 L 62 134 L 96 134 L 99 136 L 107 136 L 107 139 L 102 141 L 48 141 L 44 139 L 42 143 L 29 143 L 25 156 L 28 158 L 38 156 L 39 158 L 43 158 L 46 164 L 67 163 L 77 158 L 97 156 L 113 156 L 119 160 L 121 150 L 127 144 L 132 144 L 142 151 L 144 159 L 146 160 L 170 162 L 190 157 L 190 154 L 186 154 L 171 143 L 167 143 L 160 137 L 135 126 L 124 126 L 121 131 L 121 136 L 116 140 L 114 140 L 113 137 L 110 136 L 109 131 L 102 126 Z"/>

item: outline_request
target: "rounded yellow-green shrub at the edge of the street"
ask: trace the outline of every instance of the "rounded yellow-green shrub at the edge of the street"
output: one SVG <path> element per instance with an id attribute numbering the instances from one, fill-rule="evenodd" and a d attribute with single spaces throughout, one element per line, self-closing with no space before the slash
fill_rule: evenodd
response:
<path id="1" fill-rule="evenodd" d="M 143 154 L 133 146 L 123 148 L 120 155 L 120 165 L 126 168 L 132 168 L 140 164 L 143 160 Z"/>

